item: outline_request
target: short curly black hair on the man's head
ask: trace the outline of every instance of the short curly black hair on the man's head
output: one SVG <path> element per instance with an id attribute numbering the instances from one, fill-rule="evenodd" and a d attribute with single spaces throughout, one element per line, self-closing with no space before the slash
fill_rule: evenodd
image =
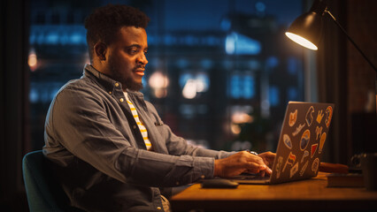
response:
<path id="1" fill-rule="evenodd" d="M 120 4 L 107 4 L 97 8 L 85 19 L 90 61 L 97 42 L 111 43 L 120 27 L 146 28 L 150 18 L 138 9 Z"/>

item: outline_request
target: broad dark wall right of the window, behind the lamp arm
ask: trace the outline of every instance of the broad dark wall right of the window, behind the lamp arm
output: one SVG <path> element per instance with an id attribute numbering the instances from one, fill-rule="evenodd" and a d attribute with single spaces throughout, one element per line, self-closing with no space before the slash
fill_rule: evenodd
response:
<path id="1" fill-rule="evenodd" d="M 327 1 L 328 10 L 357 43 L 367 57 L 377 64 L 373 9 L 377 2 L 367 0 Z M 322 42 L 318 50 L 319 102 L 334 102 L 335 115 L 327 145 L 329 162 L 349 163 L 360 152 L 377 152 L 373 68 L 325 15 Z M 372 98 L 368 94 L 372 92 Z"/>

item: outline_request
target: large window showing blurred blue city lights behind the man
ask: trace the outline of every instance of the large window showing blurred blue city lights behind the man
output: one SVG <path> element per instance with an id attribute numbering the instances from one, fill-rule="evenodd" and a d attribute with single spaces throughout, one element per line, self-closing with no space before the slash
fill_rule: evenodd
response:
<path id="1" fill-rule="evenodd" d="M 108 3 L 119 1 L 31 1 L 33 148 L 42 148 L 53 96 L 65 82 L 80 78 L 89 63 L 83 19 Z M 273 150 L 258 142 L 269 138 L 276 143 L 278 138 L 271 135 L 280 129 L 276 123 L 281 122 L 285 102 L 304 99 L 302 53 L 285 49 L 281 39 L 302 13 L 301 0 L 122 3 L 150 16 L 150 64 L 142 92 L 174 133 L 204 148 L 231 150 L 241 142 Z M 264 130 L 246 136 L 238 131 L 242 125 Z"/>

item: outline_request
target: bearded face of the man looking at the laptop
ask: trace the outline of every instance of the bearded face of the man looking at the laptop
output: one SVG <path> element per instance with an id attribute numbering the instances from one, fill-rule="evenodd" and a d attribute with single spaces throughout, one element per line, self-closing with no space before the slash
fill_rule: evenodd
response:
<path id="1" fill-rule="evenodd" d="M 108 45 L 108 73 L 122 83 L 123 89 L 142 89 L 142 76 L 148 60 L 147 33 L 139 27 L 121 27 L 114 41 Z"/>

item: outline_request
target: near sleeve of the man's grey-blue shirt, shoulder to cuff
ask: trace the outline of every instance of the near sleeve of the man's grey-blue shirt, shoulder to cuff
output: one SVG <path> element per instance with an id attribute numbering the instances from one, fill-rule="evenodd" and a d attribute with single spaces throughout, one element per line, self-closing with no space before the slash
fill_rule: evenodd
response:
<path id="1" fill-rule="evenodd" d="M 93 93 L 66 87 L 58 94 L 46 119 L 47 140 L 125 183 L 180 186 L 213 177 L 213 157 L 165 155 L 133 147 Z"/>

